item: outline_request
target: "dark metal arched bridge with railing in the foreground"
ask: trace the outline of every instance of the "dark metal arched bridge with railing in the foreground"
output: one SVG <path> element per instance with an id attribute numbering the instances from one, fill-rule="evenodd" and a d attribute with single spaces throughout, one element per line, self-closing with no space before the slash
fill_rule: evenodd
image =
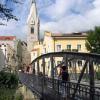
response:
<path id="1" fill-rule="evenodd" d="M 99 54 L 53 52 L 37 57 L 31 64 L 33 74 L 20 72 L 19 79 L 40 100 L 100 100 Z M 64 84 L 58 77 L 62 65 L 70 76 Z"/>

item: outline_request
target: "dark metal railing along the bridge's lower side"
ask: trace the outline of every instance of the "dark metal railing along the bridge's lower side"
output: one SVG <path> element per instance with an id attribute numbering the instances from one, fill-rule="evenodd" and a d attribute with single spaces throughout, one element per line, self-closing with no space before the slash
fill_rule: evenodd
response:
<path id="1" fill-rule="evenodd" d="M 63 100 L 63 98 L 69 100 L 91 100 L 90 96 L 93 95 L 93 100 L 100 100 L 100 87 L 92 87 L 92 91 L 90 91 L 90 86 L 86 84 L 62 82 L 59 79 L 29 75 L 26 73 L 20 73 L 20 80 L 31 91 L 37 92 L 39 97 L 50 95 L 54 100 Z M 46 98 L 43 100 L 50 100 L 48 97 Z"/>

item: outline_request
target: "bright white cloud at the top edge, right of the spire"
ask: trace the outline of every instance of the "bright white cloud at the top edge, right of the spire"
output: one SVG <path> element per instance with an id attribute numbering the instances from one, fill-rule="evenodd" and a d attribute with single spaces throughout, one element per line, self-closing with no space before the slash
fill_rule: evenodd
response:
<path id="1" fill-rule="evenodd" d="M 56 0 L 55 3 L 41 10 L 41 13 L 50 16 L 51 19 L 59 19 L 73 6 L 74 0 Z"/>

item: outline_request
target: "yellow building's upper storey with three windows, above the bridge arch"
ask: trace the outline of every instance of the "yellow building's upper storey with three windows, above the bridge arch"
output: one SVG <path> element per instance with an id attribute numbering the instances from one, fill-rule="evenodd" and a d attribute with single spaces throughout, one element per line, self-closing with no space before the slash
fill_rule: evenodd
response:
<path id="1" fill-rule="evenodd" d="M 87 52 L 86 33 L 57 34 L 45 32 L 43 48 L 45 53 L 59 51 Z"/>

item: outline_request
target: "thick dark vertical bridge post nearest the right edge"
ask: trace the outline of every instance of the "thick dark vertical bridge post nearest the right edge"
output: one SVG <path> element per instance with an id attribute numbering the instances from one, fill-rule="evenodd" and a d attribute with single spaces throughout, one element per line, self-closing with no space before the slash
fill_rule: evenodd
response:
<path id="1" fill-rule="evenodd" d="M 89 61 L 89 77 L 90 77 L 90 100 L 94 100 L 94 93 L 95 93 L 95 83 L 94 83 L 94 67 L 93 67 L 93 60 L 90 59 Z"/>

